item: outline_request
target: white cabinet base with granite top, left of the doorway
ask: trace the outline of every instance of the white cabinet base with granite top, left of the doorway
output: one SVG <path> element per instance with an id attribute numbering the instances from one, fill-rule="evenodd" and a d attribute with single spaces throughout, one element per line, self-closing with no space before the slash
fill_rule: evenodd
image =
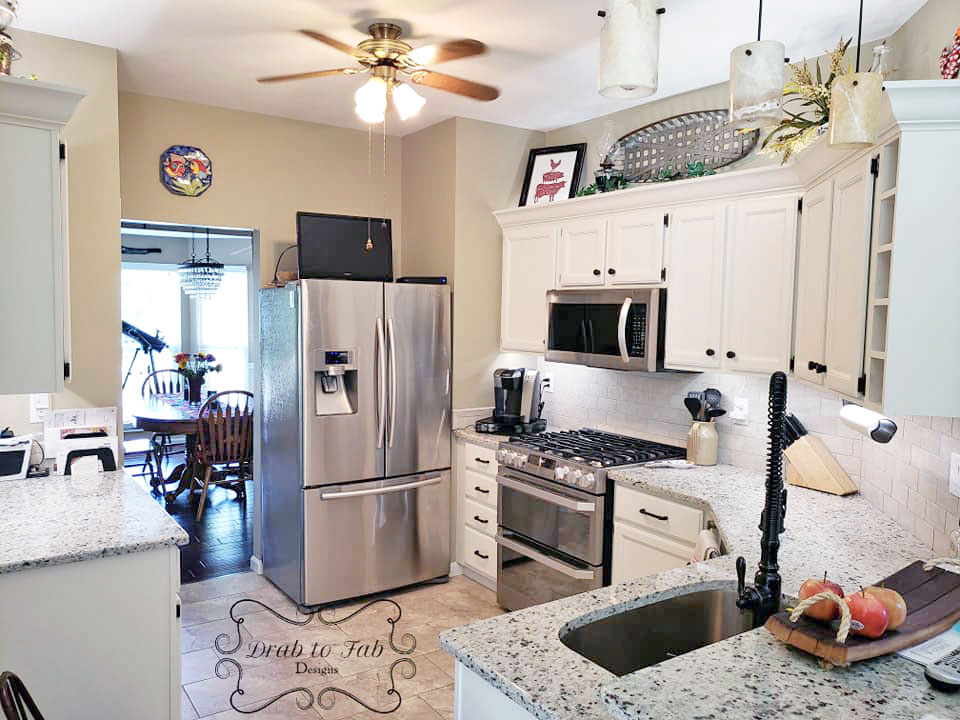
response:
<path id="1" fill-rule="evenodd" d="M 179 717 L 188 541 L 123 472 L 0 482 L 0 670 L 46 717 Z"/>

